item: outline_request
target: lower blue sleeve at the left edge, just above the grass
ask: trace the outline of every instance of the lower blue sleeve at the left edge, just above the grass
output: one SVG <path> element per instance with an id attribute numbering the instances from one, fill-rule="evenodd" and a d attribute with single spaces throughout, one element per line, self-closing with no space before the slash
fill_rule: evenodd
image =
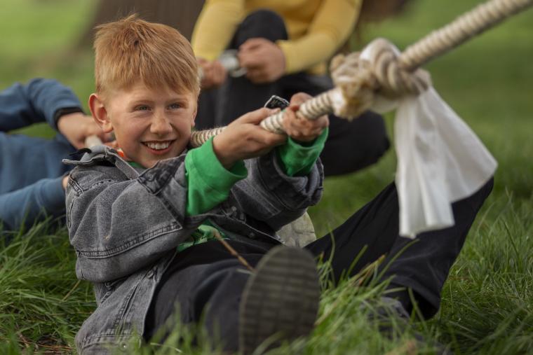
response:
<path id="1" fill-rule="evenodd" d="M 20 190 L 0 195 L 0 223 L 4 230 L 29 227 L 47 216 L 57 218 L 65 214 L 65 190 L 62 176 L 41 179 Z"/>

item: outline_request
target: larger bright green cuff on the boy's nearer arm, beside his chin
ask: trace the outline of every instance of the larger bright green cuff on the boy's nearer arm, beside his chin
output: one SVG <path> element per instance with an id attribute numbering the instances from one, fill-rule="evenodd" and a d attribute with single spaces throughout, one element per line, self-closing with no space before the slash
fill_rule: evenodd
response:
<path id="1" fill-rule="evenodd" d="M 185 156 L 187 215 L 203 214 L 226 200 L 234 184 L 248 176 L 243 161 L 225 169 L 212 150 L 212 139 Z"/>

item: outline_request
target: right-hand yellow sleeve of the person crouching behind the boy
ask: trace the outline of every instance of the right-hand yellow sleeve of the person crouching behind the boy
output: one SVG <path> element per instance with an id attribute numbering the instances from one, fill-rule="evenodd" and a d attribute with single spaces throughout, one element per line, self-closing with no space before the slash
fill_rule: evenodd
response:
<path id="1" fill-rule="evenodd" d="M 353 32 L 362 0 L 325 0 L 305 36 L 277 41 L 285 55 L 285 72 L 295 73 L 328 60 Z"/>

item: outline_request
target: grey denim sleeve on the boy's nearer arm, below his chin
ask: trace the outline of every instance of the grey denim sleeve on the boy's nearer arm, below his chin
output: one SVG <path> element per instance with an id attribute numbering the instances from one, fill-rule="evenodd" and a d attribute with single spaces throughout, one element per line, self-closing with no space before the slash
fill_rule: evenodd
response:
<path id="1" fill-rule="evenodd" d="M 196 229 L 199 223 L 184 222 L 183 160 L 184 155 L 163 160 L 137 177 L 102 163 L 79 162 L 72 170 L 67 227 L 80 279 L 103 282 L 133 274 L 166 256 Z"/>

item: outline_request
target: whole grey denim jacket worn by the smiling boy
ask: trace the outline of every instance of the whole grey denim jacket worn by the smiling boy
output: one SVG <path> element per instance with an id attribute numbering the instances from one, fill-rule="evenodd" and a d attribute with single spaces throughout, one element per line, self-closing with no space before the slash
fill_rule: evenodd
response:
<path id="1" fill-rule="evenodd" d="M 205 214 L 186 216 L 185 154 L 137 172 L 112 148 L 97 146 L 76 165 L 67 186 L 67 227 L 76 276 L 93 283 L 97 309 L 76 335 L 82 354 L 104 354 L 142 341 L 144 319 L 176 246 L 205 218 L 242 238 L 276 239 L 274 232 L 320 200 L 323 169 L 290 177 L 275 153 L 245 161 L 248 177 Z M 110 350 L 112 349 L 112 350 Z"/>

